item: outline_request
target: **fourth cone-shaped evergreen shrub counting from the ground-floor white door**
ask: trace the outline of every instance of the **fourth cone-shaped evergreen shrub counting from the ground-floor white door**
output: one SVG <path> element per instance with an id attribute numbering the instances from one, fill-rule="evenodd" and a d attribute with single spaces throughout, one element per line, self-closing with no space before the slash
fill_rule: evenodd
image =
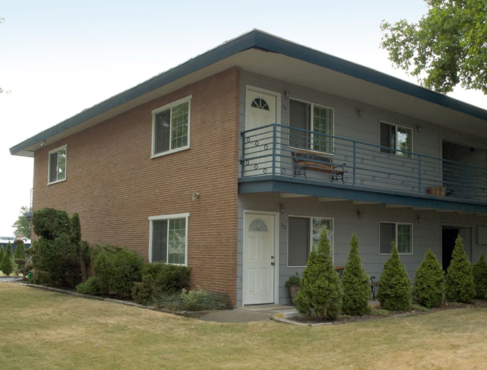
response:
<path id="1" fill-rule="evenodd" d="M 419 305 L 424 307 L 438 307 L 443 302 L 444 273 L 436 256 L 429 249 L 424 260 L 416 270 L 414 277 L 413 295 Z"/>

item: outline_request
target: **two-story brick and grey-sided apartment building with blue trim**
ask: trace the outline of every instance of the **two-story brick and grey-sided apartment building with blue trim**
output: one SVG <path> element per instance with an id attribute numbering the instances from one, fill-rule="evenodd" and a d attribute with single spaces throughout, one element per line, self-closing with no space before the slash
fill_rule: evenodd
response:
<path id="1" fill-rule="evenodd" d="M 192 268 L 236 305 L 289 302 L 323 228 L 379 277 L 454 239 L 487 245 L 487 111 L 251 31 L 11 148 L 33 210 L 78 212 L 91 245 Z"/>

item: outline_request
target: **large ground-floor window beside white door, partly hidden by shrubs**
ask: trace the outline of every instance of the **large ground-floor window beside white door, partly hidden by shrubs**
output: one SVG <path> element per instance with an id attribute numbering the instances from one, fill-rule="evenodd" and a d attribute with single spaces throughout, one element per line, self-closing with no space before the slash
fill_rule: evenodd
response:
<path id="1" fill-rule="evenodd" d="M 318 249 L 323 228 L 333 245 L 333 220 L 318 217 L 288 218 L 288 267 L 304 267 L 311 248 Z"/>

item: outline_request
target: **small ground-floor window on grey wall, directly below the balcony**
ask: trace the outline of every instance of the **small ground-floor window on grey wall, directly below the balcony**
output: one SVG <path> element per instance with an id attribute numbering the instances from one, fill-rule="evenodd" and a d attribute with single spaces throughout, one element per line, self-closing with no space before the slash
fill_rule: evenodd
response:
<path id="1" fill-rule="evenodd" d="M 379 253 L 390 254 L 393 241 L 399 253 L 412 254 L 412 224 L 381 222 Z"/>

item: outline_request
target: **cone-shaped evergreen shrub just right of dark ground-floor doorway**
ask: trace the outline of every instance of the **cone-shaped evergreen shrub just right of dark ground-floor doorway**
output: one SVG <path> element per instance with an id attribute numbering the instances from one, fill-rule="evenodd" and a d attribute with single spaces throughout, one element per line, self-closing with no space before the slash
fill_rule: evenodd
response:
<path id="1" fill-rule="evenodd" d="M 464 250 L 463 239 L 457 236 L 451 253 L 451 263 L 446 270 L 446 300 L 470 303 L 475 297 L 472 266 Z"/>

